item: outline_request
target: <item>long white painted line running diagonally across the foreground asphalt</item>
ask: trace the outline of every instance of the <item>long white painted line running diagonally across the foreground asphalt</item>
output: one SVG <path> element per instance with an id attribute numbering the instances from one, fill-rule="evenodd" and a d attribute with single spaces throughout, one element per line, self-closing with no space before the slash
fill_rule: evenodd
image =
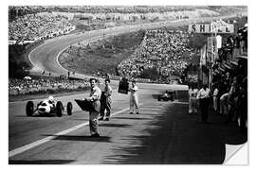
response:
<path id="1" fill-rule="evenodd" d="M 139 105 L 142 105 L 142 103 L 139 103 Z M 117 115 L 117 114 L 119 114 L 119 113 L 121 113 L 121 112 L 123 112 L 123 111 L 126 111 L 126 110 L 129 110 L 129 108 L 116 111 L 116 112 L 112 113 L 111 116 Z M 10 158 L 10 157 L 13 157 L 13 156 L 15 156 L 15 155 L 21 154 L 21 153 L 23 153 L 23 152 L 25 152 L 25 151 L 27 151 L 27 150 L 29 150 L 29 149 L 31 149 L 31 148 L 34 148 L 34 147 L 36 147 L 36 146 L 38 146 L 38 145 L 46 144 L 46 143 L 49 142 L 50 140 L 56 138 L 56 136 L 60 136 L 60 135 L 64 135 L 64 134 L 70 133 L 71 131 L 74 131 L 74 130 L 79 129 L 79 128 L 81 128 L 81 127 L 85 127 L 85 126 L 87 126 L 87 125 L 89 125 L 89 121 L 87 121 L 87 122 L 85 122 L 85 123 L 82 123 L 82 124 L 80 124 L 80 125 L 78 125 L 78 126 L 75 126 L 75 127 L 67 128 L 67 129 L 65 129 L 65 130 L 63 130 L 63 131 L 60 131 L 60 132 L 58 132 L 58 133 L 56 133 L 56 134 L 54 134 L 54 135 L 52 135 L 52 136 L 48 136 L 48 137 L 46 137 L 46 138 L 44 138 L 44 139 L 42 139 L 42 140 L 36 141 L 36 142 L 34 142 L 34 143 L 26 144 L 26 145 L 21 146 L 21 147 L 18 147 L 18 148 L 16 148 L 16 149 L 10 150 L 10 151 L 9 151 L 9 158 Z"/>

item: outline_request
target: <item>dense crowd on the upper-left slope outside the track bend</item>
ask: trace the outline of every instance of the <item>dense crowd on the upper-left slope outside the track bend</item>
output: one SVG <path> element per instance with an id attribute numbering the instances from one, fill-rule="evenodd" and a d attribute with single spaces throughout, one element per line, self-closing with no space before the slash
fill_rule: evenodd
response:
<path id="1" fill-rule="evenodd" d="M 72 26 L 68 18 L 48 12 L 27 14 L 9 22 L 9 41 L 37 41 L 44 37 L 57 36 Z"/>

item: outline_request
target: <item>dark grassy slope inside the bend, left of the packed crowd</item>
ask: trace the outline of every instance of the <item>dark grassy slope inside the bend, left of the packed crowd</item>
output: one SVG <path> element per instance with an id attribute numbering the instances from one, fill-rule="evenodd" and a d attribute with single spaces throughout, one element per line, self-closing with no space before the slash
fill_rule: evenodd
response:
<path id="1" fill-rule="evenodd" d="M 64 68 L 76 73 L 117 75 L 118 64 L 134 53 L 143 36 L 144 31 L 138 31 L 108 37 L 89 45 L 80 42 L 67 48 L 59 61 Z"/>

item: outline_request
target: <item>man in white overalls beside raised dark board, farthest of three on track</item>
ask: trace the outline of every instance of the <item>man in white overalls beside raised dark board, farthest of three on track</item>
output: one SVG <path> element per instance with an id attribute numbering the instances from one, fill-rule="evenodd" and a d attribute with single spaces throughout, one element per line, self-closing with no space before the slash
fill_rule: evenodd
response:
<path id="1" fill-rule="evenodd" d="M 129 88 L 131 92 L 130 96 L 130 114 L 134 113 L 134 107 L 136 108 L 136 112 L 138 114 L 138 96 L 137 96 L 137 86 L 136 86 L 136 80 L 132 81 L 132 87 Z"/>

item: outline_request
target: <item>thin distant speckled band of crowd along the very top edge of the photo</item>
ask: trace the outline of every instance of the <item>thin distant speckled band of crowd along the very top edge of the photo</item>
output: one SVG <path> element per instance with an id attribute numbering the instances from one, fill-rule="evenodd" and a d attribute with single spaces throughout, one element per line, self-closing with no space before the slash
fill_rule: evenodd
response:
<path id="1" fill-rule="evenodd" d="M 23 15 L 37 12 L 81 12 L 81 13 L 153 13 L 153 12 L 172 12 L 172 11 L 192 11 L 196 9 L 225 12 L 243 10 L 245 7 L 240 6 L 9 6 L 10 14 Z M 204 12 L 205 14 L 206 12 Z"/>

